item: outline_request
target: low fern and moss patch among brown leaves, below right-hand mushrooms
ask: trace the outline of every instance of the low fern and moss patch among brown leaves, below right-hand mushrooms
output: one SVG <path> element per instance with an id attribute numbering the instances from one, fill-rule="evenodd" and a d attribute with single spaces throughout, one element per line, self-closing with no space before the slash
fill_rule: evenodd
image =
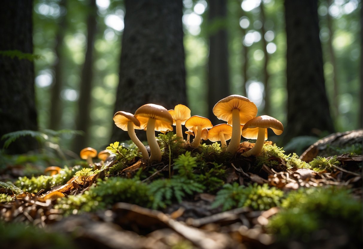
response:
<path id="1" fill-rule="evenodd" d="M 267 210 L 280 205 L 283 196 L 284 193 L 280 189 L 269 188 L 267 184 L 257 185 L 254 183 L 245 187 L 234 182 L 233 184 L 225 184 L 223 189 L 218 191 L 212 207 L 222 206 L 223 211 L 239 207 Z"/>

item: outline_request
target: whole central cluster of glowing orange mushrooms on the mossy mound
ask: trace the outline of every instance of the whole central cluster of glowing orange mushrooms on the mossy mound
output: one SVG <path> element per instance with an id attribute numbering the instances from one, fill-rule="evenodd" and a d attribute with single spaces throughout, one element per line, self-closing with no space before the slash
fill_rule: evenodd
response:
<path id="1" fill-rule="evenodd" d="M 143 159 L 147 162 L 160 162 L 161 151 L 155 138 L 155 131 L 173 131 L 176 126 L 177 140 L 184 145 L 196 148 L 201 140 L 221 142 L 226 152 L 235 154 L 241 142 L 241 136 L 247 139 L 256 139 L 255 146 L 242 155 L 258 155 L 261 152 L 264 140 L 267 139 L 267 128 L 271 128 L 276 135 L 281 135 L 284 126 L 277 119 L 263 115 L 256 117 L 257 107 L 248 98 L 241 95 L 231 95 L 221 99 L 213 107 L 213 114 L 227 123 L 213 126 L 208 118 L 194 115 L 187 106 L 176 105 L 174 110 L 167 110 L 163 106 L 146 104 L 135 111 L 135 114 L 118 111 L 113 120 L 117 127 L 129 133 L 130 139 L 139 148 Z M 188 130 L 187 139 L 184 140 L 182 125 Z M 150 158 L 145 146 L 136 137 L 135 129 L 146 130 L 147 142 L 150 146 Z M 209 129 L 209 130 L 208 130 Z M 195 138 L 190 140 L 191 135 Z M 227 146 L 227 140 L 231 139 Z"/>

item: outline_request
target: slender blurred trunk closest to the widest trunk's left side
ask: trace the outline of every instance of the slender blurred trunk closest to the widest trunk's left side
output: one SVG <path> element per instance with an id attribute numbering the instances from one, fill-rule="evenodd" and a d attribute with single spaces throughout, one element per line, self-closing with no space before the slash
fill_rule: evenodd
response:
<path id="1" fill-rule="evenodd" d="M 87 17 L 87 48 L 85 55 L 85 63 L 81 73 L 81 85 L 79 89 L 78 115 L 76 116 L 76 130 L 82 130 L 84 136 L 77 136 L 74 139 L 73 151 L 79 152 L 82 148 L 87 147 L 90 127 L 90 106 L 91 106 L 91 90 L 93 77 L 93 45 L 96 33 L 96 17 L 97 6 L 96 0 L 90 0 L 89 13 Z"/>

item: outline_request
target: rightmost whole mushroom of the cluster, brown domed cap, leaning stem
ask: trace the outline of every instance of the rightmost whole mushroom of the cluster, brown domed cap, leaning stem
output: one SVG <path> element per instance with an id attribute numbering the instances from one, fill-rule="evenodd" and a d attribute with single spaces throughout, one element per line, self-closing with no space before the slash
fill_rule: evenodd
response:
<path id="1" fill-rule="evenodd" d="M 281 135 L 284 131 L 282 123 L 276 118 L 268 115 L 258 116 L 245 123 L 242 128 L 242 136 L 244 138 L 257 140 L 253 148 L 244 152 L 242 155 L 258 155 L 261 152 L 264 141 L 267 139 L 267 128 L 271 128 L 276 135 Z"/>

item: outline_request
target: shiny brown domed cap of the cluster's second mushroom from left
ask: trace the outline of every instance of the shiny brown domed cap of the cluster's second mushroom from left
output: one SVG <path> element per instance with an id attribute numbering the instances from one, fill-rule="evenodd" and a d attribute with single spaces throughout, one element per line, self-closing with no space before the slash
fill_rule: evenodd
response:
<path id="1" fill-rule="evenodd" d="M 147 120 L 149 118 L 154 118 L 156 119 L 156 121 L 162 121 L 165 122 L 166 124 L 169 124 L 169 126 L 171 126 L 173 124 L 173 118 L 171 117 L 170 113 L 168 113 L 168 110 L 166 110 L 163 106 L 159 106 L 159 105 L 155 105 L 155 104 L 146 104 L 143 106 L 140 106 L 136 111 L 135 111 L 135 117 L 137 119 L 140 118 L 147 118 Z M 143 119 L 144 121 L 145 119 Z M 140 121 L 140 119 L 139 119 Z M 140 121 L 140 123 L 144 123 L 143 121 Z M 160 124 L 157 125 L 155 124 L 155 128 L 156 126 L 161 126 Z M 167 130 L 167 129 L 162 129 L 163 131 Z"/>

